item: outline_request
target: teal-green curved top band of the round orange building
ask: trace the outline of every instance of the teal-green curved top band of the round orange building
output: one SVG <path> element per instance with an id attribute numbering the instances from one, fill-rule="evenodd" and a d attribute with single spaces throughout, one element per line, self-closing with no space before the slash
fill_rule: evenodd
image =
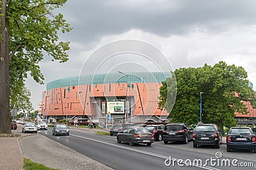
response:
<path id="1" fill-rule="evenodd" d="M 46 90 L 76 85 L 106 83 L 161 83 L 171 77 L 170 72 L 102 73 L 61 78 L 47 83 Z"/>

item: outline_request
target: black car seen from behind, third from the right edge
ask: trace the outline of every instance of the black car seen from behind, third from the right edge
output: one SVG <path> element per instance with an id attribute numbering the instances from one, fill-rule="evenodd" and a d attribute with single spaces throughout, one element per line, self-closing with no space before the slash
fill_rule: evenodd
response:
<path id="1" fill-rule="evenodd" d="M 169 141 L 182 141 L 188 143 L 189 140 L 193 139 L 193 130 L 188 124 L 176 123 L 166 124 L 163 131 L 164 144 Z"/>

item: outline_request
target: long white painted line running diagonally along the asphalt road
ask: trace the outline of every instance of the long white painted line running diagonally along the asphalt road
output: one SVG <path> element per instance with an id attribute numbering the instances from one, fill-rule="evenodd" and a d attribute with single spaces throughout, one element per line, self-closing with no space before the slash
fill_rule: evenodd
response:
<path id="1" fill-rule="evenodd" d="M 95 142 L 98 142 L 98 143 L 103 143 L 103 144 L 106 144 L 106 145 L 115 146 L 117 148 L 123 148 L 125 150 L 131 150 L 131 151 L 134 151 L 134 152 L 144 153 L 144 154 L 147 154 L 147 155 L 152 155 L 154 157 L 159 157 L 159 158 L 163 158 L 163 159 L 170 159 L 170 157 L 167 157 L 167 156 L 164 156 L 164 155 L 159 155 L 157 153 L 152 153 L 152 152 L 147 152 L 147 151 L 143 151 L 143 150 L 138 150 L 138 149 L 135 149 L 135 148 L 129 148 L 129 147 L 126 147 L 126 146 L 120 146 L 120 145 L 116 145 L 116 144 L 113 144 L 113 143 L 108 143 L 106 141 L 99 141 L 97 139 L 86 138 L 86 137 L 83 137 L 83 136 L 77 136 L 75 134 L 70 134 L 70 136 L 75 136 L 77 138 L 83 138 L 83 139 L 87 139 L 87 140 L 90 140 L 90 141 L 95 141 Z M 179 161 L 181 159 L 175 159 L 175 158 L 172 157 L 171 160 L 172 161 Z M 217 168 L 214 168 L 214 167 L 200 166 L 198 164 L 188 163 L 188 162 L 185 162 L 184 160 L 182 161 L 182 163 L 186 163 L 189 166 L 201 167 L 202 169 L 220 170 L 220 169 L 217 169 Z"/>

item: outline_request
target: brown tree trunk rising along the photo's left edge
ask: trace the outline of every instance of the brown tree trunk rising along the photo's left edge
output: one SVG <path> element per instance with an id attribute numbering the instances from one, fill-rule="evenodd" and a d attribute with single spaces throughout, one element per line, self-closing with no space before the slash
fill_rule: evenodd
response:
<path id="1" fill-rule="evenodd" d="M 6 0 L 1 1 L 0 13 L 0 133 L 11 133 L 10 120 L 10 70 L 8 22 Z"/>

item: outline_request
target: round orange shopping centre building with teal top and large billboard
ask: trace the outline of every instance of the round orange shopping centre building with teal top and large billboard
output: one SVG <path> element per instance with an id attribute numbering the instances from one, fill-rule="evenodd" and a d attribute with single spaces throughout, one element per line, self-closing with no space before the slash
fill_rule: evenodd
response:
<path id="1" fill-rule="evenodd" d="M 47 83 L 42 94 L 42 116 L 49 122 L 67 119 L 109 122 L 163 122 L 158 109 L 161 82 L 170 73 L 138 72 L 88 74 Z"/>

